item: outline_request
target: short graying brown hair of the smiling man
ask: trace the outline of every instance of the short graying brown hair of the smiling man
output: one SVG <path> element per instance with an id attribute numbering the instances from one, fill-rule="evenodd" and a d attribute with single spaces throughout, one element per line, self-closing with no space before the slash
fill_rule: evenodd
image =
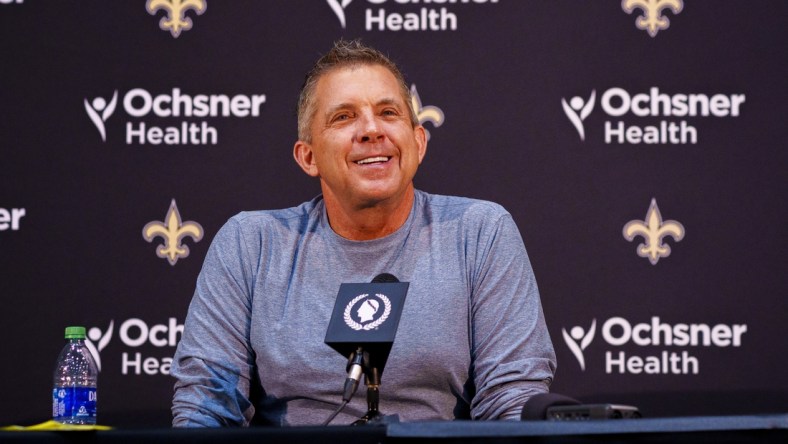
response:
<path id="1" fill-rule="evenodd" d="M 334 42 L 334 47 L 315 62 L 307 73 L 301 94 L 298 97 L 298 139 L 310 143 L 312 120 L 315 117 L 315 89 L 317 82 L 324 74 L 339 68 L 348 68 L 358 65 L 380 65 L 388 69 L 399 83 L 402 100 L 408 107 L 411 124 L 415 128 L 419 124 L 416 113 L 411 105 L 410 90 L 405 83 L 405 76 L 397 65 L 382 52 L 361 43 L 361 40 L 339 40 Z"/>

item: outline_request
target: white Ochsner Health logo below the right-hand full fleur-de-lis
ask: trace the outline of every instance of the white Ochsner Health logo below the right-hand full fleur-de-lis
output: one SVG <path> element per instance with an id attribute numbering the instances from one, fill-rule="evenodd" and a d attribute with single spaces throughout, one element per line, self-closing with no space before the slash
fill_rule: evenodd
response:
<path id="1" fill-rule="evenodd" d="M 594 319 L 587 331 L 581 326 L 574 326 L 569 332 L 561 329 L 566 346 L 583 371 L 588 364 L 598 362 L 588 359 L 586 353 L 596 336 L 596 325 Z M 600 329 L 604 341 L 602 347 L 607 348 L 604 351 L 605 373 L 697 375 L 700 374 L 700 358 L 690 354 L 690 350 L 698 347 L 741 347 L 745 333 L 747 324 L 671 324 L 653 316 L 648 322 L 633 325 L 629 320 L 615 316 L 606 320 Z M 627 351 L 616 350 L 622 346 L 628 346 Z M 632 347 L 636 347 L 638 352 L 632 353 Z"/>

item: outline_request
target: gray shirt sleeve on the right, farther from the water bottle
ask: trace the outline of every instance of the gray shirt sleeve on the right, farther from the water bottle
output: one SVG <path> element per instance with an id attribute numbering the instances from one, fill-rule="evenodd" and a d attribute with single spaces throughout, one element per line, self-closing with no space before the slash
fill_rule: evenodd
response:
<path id="1" fill-rule="evenodd" d="M 473 419 L 519 419 L 545 393 L 556 368 L 539 290 L 520 232 L 508 213 L 482 231 L 471 295 Z M 487 234 L 488 233 L 488 234 Z"/>

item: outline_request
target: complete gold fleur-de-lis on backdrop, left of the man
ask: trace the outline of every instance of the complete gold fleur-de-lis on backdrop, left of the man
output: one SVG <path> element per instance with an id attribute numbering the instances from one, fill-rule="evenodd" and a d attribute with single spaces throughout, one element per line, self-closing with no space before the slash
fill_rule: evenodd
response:
<path id="1" fill-rule="evenodd" d="M 181 244 L 184 237 L 189 236 L 194 242 L 202 239 L 203 229 L 200 224 L 193 221 L 181 222 L 181 213 L 175 205 L 175 199 L 170 203 L 170 209 L 164 217 L 165 222 L 148 222 L 142 228 L 142 237 L 152 242 L 157 236 L 164 239 L 164 244 L 156 248 L 156 256 L 167 259 L 170 265 L 175 265 L 178 259 L 189 256 L 189 247 Z"/>

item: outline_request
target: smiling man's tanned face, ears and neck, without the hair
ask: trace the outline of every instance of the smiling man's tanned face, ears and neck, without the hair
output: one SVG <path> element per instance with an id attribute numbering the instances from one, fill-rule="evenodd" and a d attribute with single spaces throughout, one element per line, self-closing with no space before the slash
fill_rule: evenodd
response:
<path id="1" fill-rule="evenodd" d="M 393 233 L 410 214 L 413 176 L 427 151 L 407 89 L 373 64 L 334 68 L 307 87 L 308 123 L 293 154 L 320 178 L 331 228 L 354 240 Z"/>

